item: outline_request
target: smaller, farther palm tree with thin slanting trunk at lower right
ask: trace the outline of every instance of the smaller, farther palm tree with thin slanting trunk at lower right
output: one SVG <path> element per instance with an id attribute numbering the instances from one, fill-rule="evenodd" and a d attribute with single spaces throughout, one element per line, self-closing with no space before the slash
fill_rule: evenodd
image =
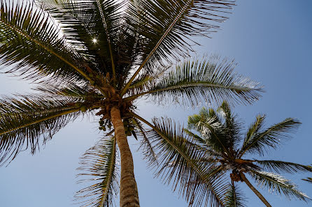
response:
<path id="1" fill-rule="evenodd" d="M 312 171 L 312 167 L 293 162 L 280 160 L 251 160 L 247 155 L 264 155 L 271 148 L 276 148 L 285 139 L 290 138 L 289 133 L 301 124 L 294 118 L 286 118 L 281 123 L 264 128 L 265 116 L 257 116 L 244 136 L 241 132 L 241 122 L 235 114 L 232 114 L 227 102 L 216 112 L 213 109 L 203 108 L 199 114 L 189 116 L 187 129 L 184 129 L 185 147 L 197 148 L 200 154 L 197 164 L 204 165 L 208 169 L 208 176 L 231 178 L 231 185 L 225 190 L 226 206 L 243 206 L 243 197 L 236 190 L 234 182 L 243 182 L 261 199 L 266 206 L 271 206 L 250 183 L 246 174 L 253 178 L 258 185 L 268 187 L 272 192 L 284 194 L 288 199 L 297 197 L 308 201 L 306 194 L 297 190 L 297 185 L 283 178 L 281 172 L 297 173 L 299 171 Z M 159 126 L 158 129 L 163 129 Z M 165 130 L 162 130 L 163 132 Z M 163 151 L 162 153 L 166 153 Z M 177 159 L 168 160 L 171 167 L 177 167 L 183 163 Z M 267 171 L 265 171 L 267 170 Z M 226 174 L 230 171 L 231 174 Z M 275 174 L 277 173 L 277 174 Z M 192 184 L 192 183 L 190 183 Z"/>

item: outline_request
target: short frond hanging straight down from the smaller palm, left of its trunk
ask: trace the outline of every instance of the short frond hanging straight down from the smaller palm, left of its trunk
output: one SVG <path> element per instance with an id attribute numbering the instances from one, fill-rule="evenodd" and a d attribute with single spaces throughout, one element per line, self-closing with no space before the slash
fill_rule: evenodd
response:
<path id="1" fill-rule="evenodd" d="M 245 201 L 245 195 L 243 194 L 243 192 L 241 192 L 239 187 L 234 185 L 234 183 L 232 183 L 232 185 L 229 185 L 225 194 L 225 206 L 244 207 L 246 206 Z"/>

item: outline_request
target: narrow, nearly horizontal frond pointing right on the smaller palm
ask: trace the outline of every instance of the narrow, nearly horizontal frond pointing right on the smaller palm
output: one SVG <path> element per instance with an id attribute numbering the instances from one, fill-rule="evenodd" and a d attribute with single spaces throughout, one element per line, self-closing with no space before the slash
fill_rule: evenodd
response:
<path id="1" fill-rule="evenodd" d="M 297 172 L 312 171 L 312 167 L 304 164 L 297 164 L 293 162 L 283 162 L 278 160 L 255 160 L 260 166 L 269 171 L 287 172 L 295 174 Z"/>

